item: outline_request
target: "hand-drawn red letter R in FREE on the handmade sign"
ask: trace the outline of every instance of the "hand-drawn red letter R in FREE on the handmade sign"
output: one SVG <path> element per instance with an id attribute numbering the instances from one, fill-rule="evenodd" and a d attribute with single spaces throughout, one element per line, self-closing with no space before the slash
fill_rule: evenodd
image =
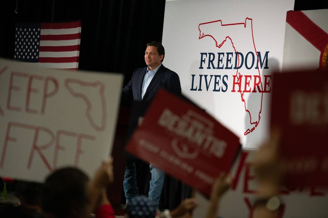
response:
<path id="1" fill-rule="evenodd" d="M 40 130 L 48 133 L 51 136 L 51 140 L 48 143 L 44 144 L 44 145 L 38 145 L 37 144 Z M 46 167 L 49 169 L 49 171 L 52 170 L 50 164 L 48 163 L 47 159 L 45 158 L 45 156 L 43 155 L 41 150 L 48 149 L 52 145 L 54 140 L 55 140 L 54 135 L 53 135 L 53 133 L 51 132 L 50 129 L 48 129 L 46 127 L 41 127 L 41 126 L 37 126 L 35 128 L 35 134 L 34 134 L 34 138 L 33 138 L 32 150 L 31 150 L 31 153 L 30 153 L 29 163 L 27 165 L 28 169 L 31 168 L 31 164 L 32 164 L 32 160 L 33 160 L 33 154 L 34 154 L 34 151 L 36 151 L 39 154 L 40 158 L 45 163 Z"/>

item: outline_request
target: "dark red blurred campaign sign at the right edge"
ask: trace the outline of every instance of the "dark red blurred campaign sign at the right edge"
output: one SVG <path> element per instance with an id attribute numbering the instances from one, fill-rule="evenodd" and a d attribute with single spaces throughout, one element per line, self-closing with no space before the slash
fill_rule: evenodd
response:
<path id="1" fill-rule="evenodd" d="M 281 130 L 284 184 L 328 187 L 328 72 L 273 75 L 271 126 Z"/>

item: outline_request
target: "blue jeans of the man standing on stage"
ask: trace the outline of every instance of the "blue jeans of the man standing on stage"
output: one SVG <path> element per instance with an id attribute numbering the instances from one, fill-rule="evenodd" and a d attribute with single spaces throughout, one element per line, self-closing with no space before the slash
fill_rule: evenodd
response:
<path id="1" fill-rule="evenodd" d="M 149 168 L 150 168 L 150 173 L 152 174 L 152 179 L 150 180 L 150 188 L 149 188 L 148 196 L 151 197 L 158 206 L 159 199 L 161 197 L 161 193 L 164 185 L 164 171 L 158 169 L 153 164 L 150 164 Z M 127 161 L 124 181 L 123 181 L 123 188 L 124 188 L 124 193 L 127 202 L 129 202 L 134 195 L 138 194 L 135 160 L 128 159 Z"/>

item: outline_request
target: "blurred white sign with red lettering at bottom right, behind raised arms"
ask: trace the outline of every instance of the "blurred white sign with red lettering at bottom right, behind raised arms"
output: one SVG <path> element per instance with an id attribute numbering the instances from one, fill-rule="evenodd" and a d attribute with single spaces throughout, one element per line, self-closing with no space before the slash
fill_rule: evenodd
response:
<path id="1" fill-rule="evenodd" d="M 254 203 L 256 201 L 256 177 L 251 164 L 255 149 L 243 149 L 231 170 L 234 182 L 230 190 L 223 195 L 219 205 L 219 217 L 222 218 L 256 218 Z M 282 209 L 276 218 L 328 217 L 328 190 L 316 187 L 308 189 L 280 190 Z M 196 193 L 198 207 L 193 217 L 204 217 L 209 202 Z"/>

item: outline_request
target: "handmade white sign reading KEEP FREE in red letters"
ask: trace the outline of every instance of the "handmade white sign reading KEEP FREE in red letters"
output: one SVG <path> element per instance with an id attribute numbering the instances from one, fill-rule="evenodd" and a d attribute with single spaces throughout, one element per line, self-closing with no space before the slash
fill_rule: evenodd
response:
<path id="1" fill-rule="evenodd" d="M 112 151 L 122 81 L 0 59 L 0 175 L 42 182 L 76 166 L 92 176 Z"/>

